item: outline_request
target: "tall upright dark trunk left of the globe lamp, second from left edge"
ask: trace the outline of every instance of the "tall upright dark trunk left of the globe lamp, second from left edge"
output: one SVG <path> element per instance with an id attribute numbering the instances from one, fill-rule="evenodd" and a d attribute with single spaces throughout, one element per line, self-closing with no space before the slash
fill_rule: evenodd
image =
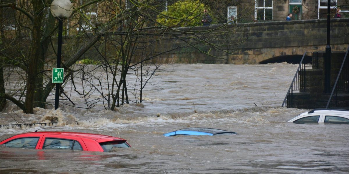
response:
<path id="1" fill-rule="evenodd" d="M 32 27 L 32 41 L 29 56 L 27 95 L 25 96 L 24 113 L 33 113 L 34 94 L 36 92 L 36 78 L 38 72 L 38 57 L 41 56 L 41 21 L 43 18 L 44 3 L 33 0 L 34 21 Z"/>

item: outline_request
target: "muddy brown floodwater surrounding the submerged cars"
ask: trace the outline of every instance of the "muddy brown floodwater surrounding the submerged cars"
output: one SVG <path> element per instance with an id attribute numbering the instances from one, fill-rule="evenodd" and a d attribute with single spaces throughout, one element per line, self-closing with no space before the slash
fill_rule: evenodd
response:
<path id="1" fill-rule="evenodd" d="M 162 68 L 144 89 L 141 105 L 131 103 L 116 111 L 105 110 L 103 103 L 89 110 L 60 105 L 57 111 L 35 108 L 35 114 L 9 105 L 0 114 L 1 124 L 15 124 L 14 118 L 40 122 L 58 117 L 57 127 L 44 130 L 117 136 L 132 147 L 114 152 L 0 147 L 0 173 L 349 172 L 348 125 L 286 123 L 307 111 L 281 107 L 297 65 Z M 83 106 L 79 96 L 71 96 L 77 106 Z M 0 128 L 0 139 L 46 127 Z M 238 134 L 163 136 L 187 127 Z"/>

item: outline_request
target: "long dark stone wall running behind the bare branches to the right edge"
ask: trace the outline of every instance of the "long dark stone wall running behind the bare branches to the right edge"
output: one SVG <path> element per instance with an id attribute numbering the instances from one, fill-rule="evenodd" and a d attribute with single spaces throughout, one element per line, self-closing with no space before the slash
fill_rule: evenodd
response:
<path id="1" fill-rule="evenodd" d="M 304 52 L 324 51 L 326 47 L 327 21 L 325 19 L 319 20 L 299 20 L 299 21 L 278 21 L 278 22 L 257 22 L 257 23 L 238 23 L 228 25 L 231 31 L 228 34 L 219 35 L 223 29 L 213 30 L 208 33 L 215 35 L 220 40 L 211 40 L 212 42 L 236 44 L 224 47 L 222 49 L 228 50 L 230 53 L 222 50 L 215 50 L 206 45 L 198 44 L 197 48 L 187 46 L 188 44 L 179 39 L 159 40 L 157 42 L 148 42 L 148 53 L 162 52 L 170 50 L 179 46 L 186 46 L 184 48 L 176 49 L 166 54 L 161 54 L 159 58 L 154 59 L 156 63 L 215 63 L 215 64 L 256 64 L 268 59 L 276 59 L 283 61 L 285 56 L 301 57 Z M 345 51 L 349 46 L 349 18 L 331 19 L 331 48 L 332 51 Z M 192 30 L 209 30 L 222 26 L 222 24 L 215 24 L 211 26 L 198 26 Z M 188 28 L 178 28 L 180 30 L 187 30 Z M 228 30 L 225 28 L 224 30 Z M 91 33 L 93 34 L 93 33 Z M 92 36 L 88 36 L 92 37 Z M 88 38 L 87 37 L 87 38 Z M 201 34 L 203 37 L 203 34 Z M 72 38 L 70 40 L 69 38 Z M 62 60 L 66 60 L 74 55 L 74 50 L 81 46 L 82 42 L 87 40 L 80 39 L 73 40 L 74 37 L 64 38 Z M 143 38 L 146 40 L 147 38 Z M 160 38 L 158 38 L 160 39 Z M 245 40 L 246 39 L 246 40 Z M 152 38 L 152 40 L 155 40 Z M 241 43 L 239 43 L 241 42 Z M 53 40 L 53 44 L 57 41 Z M 107 48 L 105 49 L 104 46 Z M 72 47 L 74 49 L 65 49 L 65 47 Z M 107 57 L 115 57 L 116 50 L 119 49 L 117 43 L 104 42 L 97 43 L 99 52 L 95 47 L 92 47 L 82 58 L 97 58 L 100 54 Z M 56 47 L 54 47 L 56 48 Z M 68 52 L 70 50 L 70 52 Z M 203 52 L 209 53 L 215 57 L 209 56 Z M 53 50 L 49 50 L 50 56 L 55 60 Z M 136 55 L 136 58 L 141 58 L 145 53 Z"/>

